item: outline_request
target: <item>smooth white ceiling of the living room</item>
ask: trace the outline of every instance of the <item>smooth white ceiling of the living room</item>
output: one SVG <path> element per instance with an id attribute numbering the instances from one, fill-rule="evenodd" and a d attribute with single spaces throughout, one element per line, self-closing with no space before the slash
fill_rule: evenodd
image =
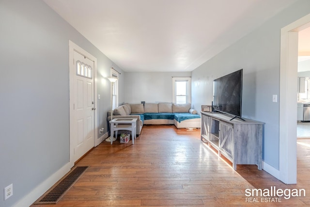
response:
<path id="1" fill-rule="evenodd" d="M 44 1 L 132 72 L 192 71 L 296 0 Z"/>

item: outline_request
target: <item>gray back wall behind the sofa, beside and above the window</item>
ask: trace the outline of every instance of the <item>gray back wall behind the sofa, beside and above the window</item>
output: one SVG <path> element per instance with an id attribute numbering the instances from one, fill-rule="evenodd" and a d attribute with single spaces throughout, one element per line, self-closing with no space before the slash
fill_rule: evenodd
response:
<path id="1" fill-rule="evenodd" d="M 190 77 L 190 74 L 191 72 L 127 72 L 124 75 L 124 101 L 172 102 L 172 77 Z"/>

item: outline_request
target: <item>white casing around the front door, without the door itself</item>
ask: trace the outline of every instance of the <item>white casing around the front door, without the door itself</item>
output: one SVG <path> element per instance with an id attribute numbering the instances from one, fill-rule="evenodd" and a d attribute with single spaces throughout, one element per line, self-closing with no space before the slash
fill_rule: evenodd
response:
<path id="1" fill-rule="evenodd" d="M 97 59 L 95 57 L 93 57 L 93 55 L 91 55 L 90 53 L 88 53 L 87 51 L 85 51 L 83 48 L 80 48 L 78 45 L 76 45 L 75 43 L 73 43 L 72 41 L 69 40 L 69 104 L 70 104 L 70 109 L 69 109 L 69 125 L 70 125 L 70 138 L 69 138 L 69 146 L 70 146 L 70 158 L 69 158 L 69 163 L 71 165 L 71 167 L 74 166 L 74 141 L 73 141 L 73 123 L 74 122 L 74 76 L 75 76 L 75 67 L 74 67 L 74 51 L 79 52 L 80 54 L 85 55 L 88 59 L 92 60 L 94 62 L 94 68 L 93 68 L 93 78 L 94 78 L 94 108 L 97 108 Z M 94 143 L 93 146 L 96 146 L 97 143 L 97 139 L 98 139 L 98 113 L 97 110 L 95 110 L 94 112 Z"/>

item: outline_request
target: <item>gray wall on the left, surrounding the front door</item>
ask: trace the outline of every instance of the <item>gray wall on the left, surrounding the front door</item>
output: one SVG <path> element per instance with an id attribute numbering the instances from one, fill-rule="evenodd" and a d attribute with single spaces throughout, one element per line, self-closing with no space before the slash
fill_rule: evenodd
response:
<path id="1" fill-rule="evenodd" d="M 69 40 L 97 58 L 98 129 L 105 132 L 105 77 L 112 65 L 123 71 L 42 0 L 1 0 L 0 28 L 0 206 L 11 207 L 69 161 Z M 14 195 L 4 201 L 11 183 Z"/>

